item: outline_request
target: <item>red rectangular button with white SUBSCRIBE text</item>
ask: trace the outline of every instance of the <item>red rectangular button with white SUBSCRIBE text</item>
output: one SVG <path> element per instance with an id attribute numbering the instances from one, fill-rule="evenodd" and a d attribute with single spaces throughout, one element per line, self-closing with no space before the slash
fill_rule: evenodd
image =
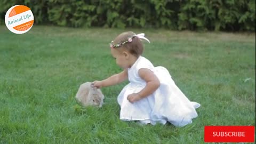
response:
<path id="1" fill-rule="evenodd" d="M 254 142 L 254 126 L 204 126 L 204 142 Z"/>

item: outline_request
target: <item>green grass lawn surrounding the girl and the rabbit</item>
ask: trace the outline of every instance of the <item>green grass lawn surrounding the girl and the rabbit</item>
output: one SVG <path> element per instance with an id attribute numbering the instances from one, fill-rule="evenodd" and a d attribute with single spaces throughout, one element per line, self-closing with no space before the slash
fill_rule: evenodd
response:
<path id="1" fill-rule="evenodd" d="M 102 108 L 79 107 L 80 84 L 121 71 L 108 43 L 126 30 L 0 26 L 0 143 L 204 143 L 205 125 L 255 126 L 255 33 L 133 29 L 151 41 L 143 55 L 201 103 L 185 127 L 119 120 L 127 82 L 102 89 Z"/>

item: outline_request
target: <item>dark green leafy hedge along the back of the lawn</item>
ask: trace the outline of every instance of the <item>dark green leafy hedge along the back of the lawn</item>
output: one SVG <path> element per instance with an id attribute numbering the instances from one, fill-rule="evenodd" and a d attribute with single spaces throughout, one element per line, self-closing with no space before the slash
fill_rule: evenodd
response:
<path id="1" fill-rule="evenodd" d="M 16 4 L 43 25 L 255 31 L 255 0 L 1 0 L 1 23 Z"/>

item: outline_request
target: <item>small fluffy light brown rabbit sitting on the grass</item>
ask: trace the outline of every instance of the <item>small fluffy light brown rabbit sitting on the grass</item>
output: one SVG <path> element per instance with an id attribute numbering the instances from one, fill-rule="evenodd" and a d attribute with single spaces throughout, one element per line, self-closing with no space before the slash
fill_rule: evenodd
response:
<path id="1" fill-rule="evenodd" d="M 98 106 L 102 107 L 104 95 L 100 89 L 91 86 L 91 82 L 86 82 L 80 85 L 77 93 L 76 100 L 84 107 Z"/>

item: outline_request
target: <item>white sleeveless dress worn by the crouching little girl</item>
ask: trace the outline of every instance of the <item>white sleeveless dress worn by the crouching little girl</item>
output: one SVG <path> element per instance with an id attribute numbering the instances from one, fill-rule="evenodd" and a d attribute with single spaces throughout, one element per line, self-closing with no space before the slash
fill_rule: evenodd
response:
<path id="1" fill-rule="evenodd" d="M 146 82 L 140 78 L 139 69 L 147 68 L 158 77 L 161 85 L 146 98 L 136 102 L 129 102 L 127 96 L 140 92 Z M 128 69 L 127 84 L 117 97 L 121 107 L 120 119 L 123 121 L 140 121 L 143 124 L 170 122 L 175 126 L 185 126 L 197 117 L 195 108 L 200 107 L 197 102 L 191 102 L 173 82 L 169 71 L 164 67 L 154 67 L 146 58 L 140 56 Z"/>

